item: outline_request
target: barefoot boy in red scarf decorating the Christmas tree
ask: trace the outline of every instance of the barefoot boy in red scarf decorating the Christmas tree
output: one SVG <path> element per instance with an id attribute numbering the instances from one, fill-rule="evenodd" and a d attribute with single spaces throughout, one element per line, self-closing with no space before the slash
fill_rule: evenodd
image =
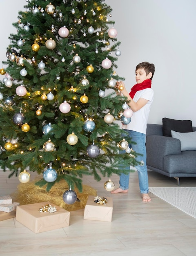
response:
<path id="1" fill-rule="evenodd" d="M 143 202 L 151 201 L 148 195 L 148 174 L 146 166 L 146 127 L 147 119 L 150 112 L 150 106 L 153 101 L 154 92 L 151 89 L 151 80 L 153 78 L 155 66 L 149 62 L 142 62 L 136 66 L 136 85 L 131 88 L 131 92 L 128 93 L 125 84 L 122 81 L 116 83 L 116 87 L 119 89 L 123 86 L 123 90 L 120 91 L 129 100 L 129 107 L 133 110 L 134 114 L 131 117 L 130 124 L 122 125 L 122 129 L 128 132 L 128 136 L 132 138 L 137 144 L 132 145 L 132 149 L 136 153 L 142 154 L 138 156 L 137 160 L 141 162 L 136 166 L 138 171 L 140 193 L 142 194 Z M 120 175 L 120 186 L 118 189 L 111 191 L 111 193 L 127 193 L 129 188 L 129 174 Z"/>

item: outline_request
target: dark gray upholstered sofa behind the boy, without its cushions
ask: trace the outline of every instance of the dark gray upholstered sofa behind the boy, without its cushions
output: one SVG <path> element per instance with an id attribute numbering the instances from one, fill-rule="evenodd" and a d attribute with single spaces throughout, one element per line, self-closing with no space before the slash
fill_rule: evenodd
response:
<path id="1" fill-rule="evenodd" d="M 181 151 L 180 140 L 163 136 L 162 125 L 147 124 L 146 150 L 147 168 L 176 178 L 178 186 L 180 177 L 196 177 L 196 150 Z"/>

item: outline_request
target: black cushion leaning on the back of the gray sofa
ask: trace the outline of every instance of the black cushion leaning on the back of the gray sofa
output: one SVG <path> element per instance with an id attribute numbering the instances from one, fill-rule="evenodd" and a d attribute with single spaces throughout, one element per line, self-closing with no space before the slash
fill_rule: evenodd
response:
<path id="1" fill-rule="evenodd" d="M 164 117 L 163 121 L 163 136 L 171 137 L 171 130 L 175 132 L 192 132 L 191 120 L 176 120 Z"/>

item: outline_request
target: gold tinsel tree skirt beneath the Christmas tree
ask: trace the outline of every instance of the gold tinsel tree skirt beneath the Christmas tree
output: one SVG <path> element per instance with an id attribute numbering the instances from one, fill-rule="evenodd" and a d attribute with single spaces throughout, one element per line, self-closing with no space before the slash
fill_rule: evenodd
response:
<path id="1" fill-rule="evenodd" d="M 67 211 L 76 211 L 85 207 L 89 195 L 97 195 L 97 191 L 91 186 L 82 185 L 82 193 L 77 188 L 74 189 L 77 194 L 77 201 L 74 204 L 66 204 L 62 199 L 63 193 L 69 190 L 65 181 L 56 182 L 50 191 L 46 191 L 46 185 L 42 187 L 35 185 L 36 182 L 38 180 L 20 183 L 17 191 L 11 195 L 13 201 L 19 202 L 20 205 L 51 202 Z"/>

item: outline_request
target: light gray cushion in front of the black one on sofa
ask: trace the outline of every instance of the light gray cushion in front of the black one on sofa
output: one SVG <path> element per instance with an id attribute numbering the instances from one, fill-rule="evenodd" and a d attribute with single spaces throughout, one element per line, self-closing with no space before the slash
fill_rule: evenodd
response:
<path id="1" fill-rule="evenodd" d="M 175 132 L 171 130 L 171 137 L 180 140 L 181 151 L 196 150 L 196 132 Z"/>

